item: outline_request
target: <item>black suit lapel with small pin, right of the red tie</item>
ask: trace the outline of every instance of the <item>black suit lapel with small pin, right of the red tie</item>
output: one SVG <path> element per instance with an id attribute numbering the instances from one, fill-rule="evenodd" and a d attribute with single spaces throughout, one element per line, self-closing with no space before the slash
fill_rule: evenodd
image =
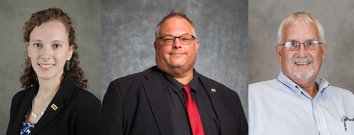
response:
<path id="1" fill-rule="evenodd" d="M 199 78 L 204 85 L 207 94 L 209 95 L 210 102 L 214 108 L 215 114 L 218 118 L 220 125 L 220 134 L 221 135 L 231 135 L 233 129 L 230 126 L 230 121 L 228 115 L 231 112 L 230 108 L 227 107 L 227 98 L 224 90 L 218 89 L 218 84 L 208 81 L 206 77 L 199 74 Z M 212 91 L 215 89 L 215 92 Z"/>

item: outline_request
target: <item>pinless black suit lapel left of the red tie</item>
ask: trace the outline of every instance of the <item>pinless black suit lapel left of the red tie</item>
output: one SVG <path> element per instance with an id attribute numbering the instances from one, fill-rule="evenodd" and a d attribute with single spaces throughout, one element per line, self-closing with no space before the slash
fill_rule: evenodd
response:
<path id="1" fill-rule="evenodd" d="M 145 74 L 148 79 L 142 81 L 145 94 L 154 114 L 161 135 L 173 135 L 172 113 L 169 105 L 169 92 L 166 88 L 165 78 L 157 67 Z"/>

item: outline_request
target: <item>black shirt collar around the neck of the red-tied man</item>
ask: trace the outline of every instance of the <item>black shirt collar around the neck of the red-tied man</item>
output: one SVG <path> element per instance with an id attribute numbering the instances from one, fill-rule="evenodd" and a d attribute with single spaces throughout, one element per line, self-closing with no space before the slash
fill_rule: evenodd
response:
<path id="1" fill-rule="evenodd" d="M 185 85 L 177 81 L 175 78 L 172 77 L 172 75 L 167 74 L 164 71 L 161 71 L 162 74 L 164 75 L 166 84 L 169 85 L 175 92 L 179 92 L 183 89 Z M 197 91 L 197 86 L 198 86 L 198 72 L 195 71 L 193 68 L 193 79 L 190 80 L 187 84 L 192 90 Z"/>

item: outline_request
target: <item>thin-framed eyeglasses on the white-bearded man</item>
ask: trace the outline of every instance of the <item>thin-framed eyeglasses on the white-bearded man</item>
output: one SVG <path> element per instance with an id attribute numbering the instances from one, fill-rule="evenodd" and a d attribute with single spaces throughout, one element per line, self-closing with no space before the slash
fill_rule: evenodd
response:
<path id="1" fill-rule="evenodd" d="M 297 41 L 289 41 L 289 42 L 285 42 L 285 44 L 281 44 L 281 45 L 285 45 L 286 50 L 296 51 L 297 49 L 299 49 L 300 44 L 304 44 L 304 46 L 307 50 L 316 50 L 316 49 L 318 49 L 319 44 L 322 44 L 322 43 L 318 42 L 318 41 L 306 41 L 305 43 L 298 43 Z"/>

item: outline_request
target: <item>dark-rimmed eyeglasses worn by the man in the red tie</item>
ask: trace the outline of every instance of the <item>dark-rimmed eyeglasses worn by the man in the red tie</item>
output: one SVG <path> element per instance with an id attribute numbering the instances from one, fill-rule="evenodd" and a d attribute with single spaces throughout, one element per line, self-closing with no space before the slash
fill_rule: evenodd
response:
<path id="1" fill-rule="evenodd" d="M 160 38 L 157 38 L 156 41 L 158 39 L 161 39 L 162 44 L 164 45 L 173 45 L 175 44 L 175 40 L 176 38 L 179 39 L 179 42 L 181 42 L 182 45 L 187 45 L 192 43 L 193 38 L 195 39 L 195 36 L 192 35 L 183 35 L 183 36 L 162 36 Z"/>

